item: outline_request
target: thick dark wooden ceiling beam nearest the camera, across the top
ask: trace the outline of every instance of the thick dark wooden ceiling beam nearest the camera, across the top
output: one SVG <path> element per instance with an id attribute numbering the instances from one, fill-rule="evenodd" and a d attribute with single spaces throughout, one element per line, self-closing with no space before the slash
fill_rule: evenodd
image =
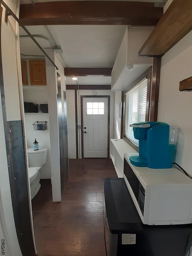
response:
<path id="1" fill-rule="evenodd" d="M 147 2 L 43 2 L 20 5 L 19 24 L 155 26 L 162 15 L 163 8 Z"/>

